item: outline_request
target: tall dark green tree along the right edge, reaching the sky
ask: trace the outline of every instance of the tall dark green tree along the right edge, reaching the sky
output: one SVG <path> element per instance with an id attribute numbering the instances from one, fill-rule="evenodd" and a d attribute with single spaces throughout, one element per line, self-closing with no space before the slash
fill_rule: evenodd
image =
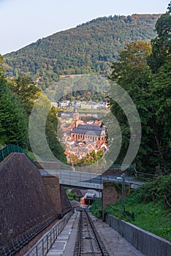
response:
<path id="1" fill-rule="evenodd" d="M 153 75 L 151 81 L 151 98 L 153 110 L 155 111 L 155 139 L 158 136 L 158 167 L 160 170 L 167 171 L 171 168 L 171 2 L 168 12 L 156 22 L 157 37 L 152 40 L 152 53 L 148 58 Z"/>

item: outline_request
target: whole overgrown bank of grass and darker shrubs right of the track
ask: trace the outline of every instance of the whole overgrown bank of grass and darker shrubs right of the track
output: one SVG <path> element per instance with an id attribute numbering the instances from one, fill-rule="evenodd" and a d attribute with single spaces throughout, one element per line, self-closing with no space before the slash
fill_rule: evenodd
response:
<path id="1" fill-rule="evenodd" d="M 111 214 L 171 241 L 170 182 L 171 175 L 147 182 L 125 199 L 123 215 L 121 214 L 121 200 L 115 205 L 108 206 L 104 214 Z M 164 197 L 167 198 L 165 203 Z M 101 205 L 97 201 L 91 207 L 92 213 L 98 214 L 98 211 L 102 209 Z"/>

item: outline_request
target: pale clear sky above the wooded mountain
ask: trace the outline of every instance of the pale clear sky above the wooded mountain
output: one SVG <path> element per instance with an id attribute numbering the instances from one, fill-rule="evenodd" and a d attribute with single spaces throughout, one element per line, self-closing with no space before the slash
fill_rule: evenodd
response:
<path id="1" fill-rule="evenodd" d="M 98 17 L 164 13 L 170 0 L 0 0 L 0 54 Z"/>

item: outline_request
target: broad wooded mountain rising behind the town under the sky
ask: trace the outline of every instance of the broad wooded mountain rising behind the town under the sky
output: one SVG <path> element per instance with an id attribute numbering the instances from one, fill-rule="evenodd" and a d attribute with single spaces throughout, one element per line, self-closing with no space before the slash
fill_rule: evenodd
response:
<path id="1" fill-rule="evenodd" d="M 4 55 L 8 78 L 28 75 L 42 89 L 59 75 L 96 73 L 107 76 L 124 45 L 156 36 L 160 15 L 110 16 L 61 31 Z"/>

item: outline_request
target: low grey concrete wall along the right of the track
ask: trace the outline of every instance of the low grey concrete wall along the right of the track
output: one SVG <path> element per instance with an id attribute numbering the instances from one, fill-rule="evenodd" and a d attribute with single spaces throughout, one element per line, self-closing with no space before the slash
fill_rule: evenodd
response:
<path id="1" fill-rule="evenodd" d="M 171 243 L 169 241 L 108 214 L 105 221 L 142 254 L 146 256 L 171 255 Z"/>

